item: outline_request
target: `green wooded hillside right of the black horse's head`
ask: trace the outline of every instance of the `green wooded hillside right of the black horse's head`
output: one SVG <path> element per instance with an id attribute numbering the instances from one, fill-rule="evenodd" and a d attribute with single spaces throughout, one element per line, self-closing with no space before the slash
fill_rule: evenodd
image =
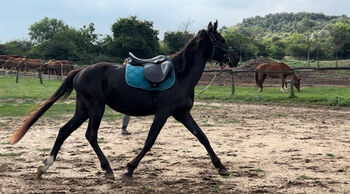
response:
<path id="1" fill-rule="evenodd" d="M 350 18 L 322 13 L 277 13 L 247 18 L 223 28 L 223 36 L 242 60 L 257 56 L 282 59 L 350 57 Z"/>

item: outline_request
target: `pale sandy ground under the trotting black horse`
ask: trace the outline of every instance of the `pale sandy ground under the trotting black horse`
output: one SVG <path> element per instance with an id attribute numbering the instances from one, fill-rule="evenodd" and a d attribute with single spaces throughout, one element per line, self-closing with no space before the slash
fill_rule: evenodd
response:
<path id="1" fill-rule="evenodd" d="M 40 119 L 15 146 L 7 137 L 19 118 L 0 119 L 0 192 L 86 193 L 349 193 L 350 111 L 199 102 L 192 111 L 231 175 L 221 177 L 204 147 L 170 118 L 134 172 L 120 179 L 140 151 L 152 117 L 103 121 L 99 142 L 116 176 L 107 180 L 85 139 L 85 123 L 63 145 L 42 178 L 36 169 L 68 119 Z"/>

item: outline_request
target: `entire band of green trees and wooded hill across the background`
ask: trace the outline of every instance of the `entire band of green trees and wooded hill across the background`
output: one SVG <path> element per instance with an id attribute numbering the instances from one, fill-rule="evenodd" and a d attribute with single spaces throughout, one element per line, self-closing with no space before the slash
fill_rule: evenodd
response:
<path id="1" fill-rule="evenodd" d="M 195 34 L 188 31 L 159 31 L 153 22 L 136 16 L 117 19 L 110 35 L 95 32 L 93 23 L 79 29 L 62 20 L 43 18 L 29 27 L 29 40 L 0 44 L 0 54 L 72 61 L 121 61 L 131 51 L 139 57 L 172 54 Z M 266 56 L 282 59 L 350 58 L 350 18 L 322 13 L 277 13 L 243 19 L 223 27 L 227 43 L 241 60 Z"/>

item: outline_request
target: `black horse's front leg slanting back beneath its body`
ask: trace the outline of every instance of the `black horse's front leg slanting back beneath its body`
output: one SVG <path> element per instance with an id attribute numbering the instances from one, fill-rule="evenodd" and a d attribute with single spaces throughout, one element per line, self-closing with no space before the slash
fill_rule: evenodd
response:
<path id="1" fill-rule="evenodd" d="M 123 174 L 123 178 L 130 179 L 135 168 L 138 166 L 142 158 L 146 155 L 146 153 L 152 148 L 154 142 L 156 141 L 160 130 L 163 128 L 166 120 L 169 116 L 167 114 L 156 114 L 151 126 L 150 131 L 148 132 L 148 136 L 140 153 L 127 164 L 127 172 Z"/>

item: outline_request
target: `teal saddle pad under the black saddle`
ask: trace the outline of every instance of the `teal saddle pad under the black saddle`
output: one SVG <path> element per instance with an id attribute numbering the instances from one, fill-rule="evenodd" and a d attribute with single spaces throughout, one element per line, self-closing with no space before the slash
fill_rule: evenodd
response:
<path id="1" fill-rule="evenodd" d="M 142 66 L 134 66 L 127 64 L 125 68 L 125 81 L 126 83 L 134 88 L 140 88 L 150 91 L 163 91 L 171 88 L 175 83 L 175 71 L 174 68 L 171 70 L 170 75 L 168 75 L 165 80 L 156 87 L 153 86 L 151 82 L 145 79 L 143 76 L 144 68 Z"/>

